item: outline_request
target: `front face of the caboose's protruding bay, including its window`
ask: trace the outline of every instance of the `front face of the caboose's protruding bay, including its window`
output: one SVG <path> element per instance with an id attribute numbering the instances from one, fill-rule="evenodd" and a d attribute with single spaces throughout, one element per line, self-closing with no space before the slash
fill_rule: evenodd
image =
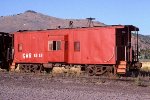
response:
<path id="1" fill-rule="evenodd" d="M 65 36 L 48 36 L 48 62 L 65 61 Z"/>

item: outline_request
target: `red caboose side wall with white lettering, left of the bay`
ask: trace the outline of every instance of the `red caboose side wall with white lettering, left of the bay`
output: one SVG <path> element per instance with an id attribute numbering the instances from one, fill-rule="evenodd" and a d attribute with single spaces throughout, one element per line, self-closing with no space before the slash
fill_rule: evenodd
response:
<path id="1" fill-rule="evenodd" d="M 46 63 L 46 35 L 40 32 L 18 32 L 14 34 L 14 61 L 20 63 Z"/>

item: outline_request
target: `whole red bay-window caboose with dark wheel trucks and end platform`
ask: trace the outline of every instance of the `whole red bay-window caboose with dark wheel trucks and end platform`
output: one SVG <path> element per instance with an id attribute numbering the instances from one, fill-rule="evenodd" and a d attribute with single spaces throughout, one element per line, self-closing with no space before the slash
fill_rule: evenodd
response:
<path id="1" fill-rule="evenodd" d="M 90 75 L 125 74 L 137 68 L 138 48 L 131 46 L 131 33 L 138 30 L 118 25 L 19 31 L 14 33 L 14 62 L 25 71 L 78 65 Z"/>

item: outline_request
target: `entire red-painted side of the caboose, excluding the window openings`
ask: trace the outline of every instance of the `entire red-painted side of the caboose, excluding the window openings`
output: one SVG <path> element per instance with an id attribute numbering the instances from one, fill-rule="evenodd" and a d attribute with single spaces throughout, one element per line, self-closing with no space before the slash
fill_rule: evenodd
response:
<path id="1" fill-rule="evenodd" d="M 14 33 L 16 63 L 65 62 L 70 64 L 116 64 L 116 29 L 107 26 Z M 49 50 L 48 41 L 60 41 L 60 50 Z M 80 51 L 74 51 L 80 42 Z M 18 51 L 22 44 L 22 51 Z M 77 44 L 79 49 L 79 44 Z"/>

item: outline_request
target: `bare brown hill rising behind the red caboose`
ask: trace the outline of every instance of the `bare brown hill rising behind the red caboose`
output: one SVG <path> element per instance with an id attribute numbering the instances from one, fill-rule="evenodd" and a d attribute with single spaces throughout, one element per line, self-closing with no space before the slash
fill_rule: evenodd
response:
<path id="1" fill-rule="evenodd" d="M 73 27 L 88 27 L 87 19 L 61 19 L 28 10 L 16 15 L 0 16 L 0 31 L 12 33 L 18 30 L 68 28 L 70 21 L 73 21 Z M 94 26 L 105 26 L 104 23 L 96 21 L 93 24 Z M 136 41 L 135 35 L 132 40 Z M 139 35 L 139 47 L 144 50 L 150 49 L 150 35 Z"/>

